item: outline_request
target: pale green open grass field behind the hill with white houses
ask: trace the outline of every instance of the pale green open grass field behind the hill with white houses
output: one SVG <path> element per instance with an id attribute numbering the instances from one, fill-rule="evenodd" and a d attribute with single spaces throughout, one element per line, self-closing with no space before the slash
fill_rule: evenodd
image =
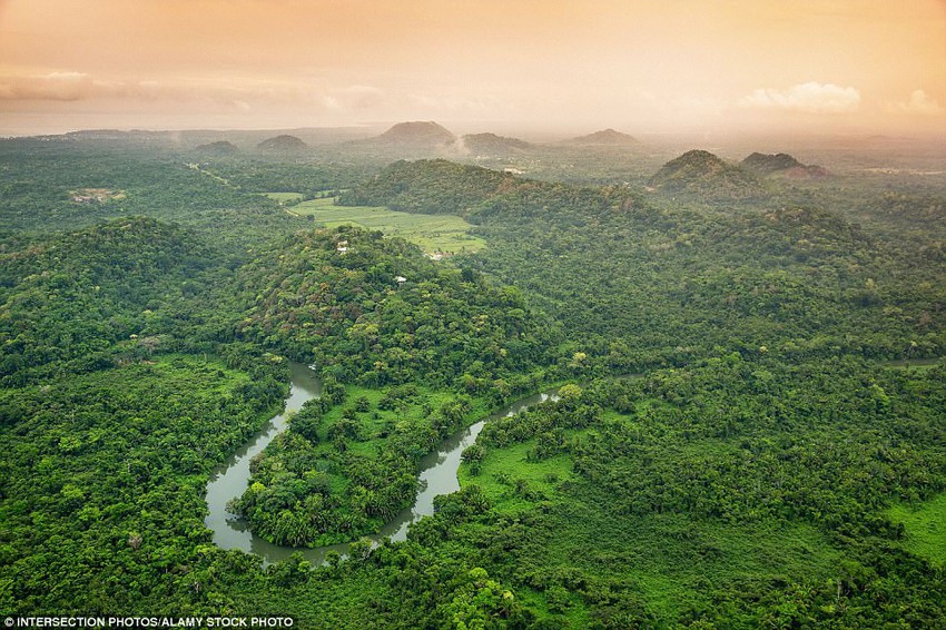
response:
<path id="1" fill-rule="evenodd" d="M 332 198 L 303 201 L 287 211 L 311 216 L 326 227 L 355 225 L 378 229 L 386 236 L 405 238 L 431 255 L 479 252 L 486 246 L 485 240 L 470 234 L 472 225 L 453 215 L 417 215 L 384 207 L 336 206 Z"/>

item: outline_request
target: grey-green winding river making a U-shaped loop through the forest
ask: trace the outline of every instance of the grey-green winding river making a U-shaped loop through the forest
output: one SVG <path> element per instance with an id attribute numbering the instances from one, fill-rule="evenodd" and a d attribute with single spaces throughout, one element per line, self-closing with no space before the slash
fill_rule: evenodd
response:
<path id="1" fill-rule="evenodd" d="M 249 461 L 286 429 L 287 416 L 302 407 L 306 401 L 322 394 L 322 385 L 315 373 L 299 363 L 289 364 L 292 388 L 286 400 L 286 408 L 273 417 L 263 430 L 254 435 L 239 451 L 227 460 L 210 476 L 207 483 L 207 509 L 209 514 L 204 523 L 214 532 L 214 543 L 221 549 L 239 549 L 263 558 L 264 564 L 286 560 L 293 553 L 302 553 L 313 564 L 321 564 L 329 551 L 344 555 L 349 543 L 332 544 L 328 547 L 294 548 L 280 547 L 267 542 L 254 534 L 246 521 L 227 512 L 227 503 L 242 495 L 249 482 Z M 450 494 L 460 490 L 456 471 L 460 467 L 460 455 L 466 446 L 476 441 L 483 425 L 495 417 L 513 415 L 522 410 L 553 397 L 551 393 L 541 393 L 522 398 L 501 412 L 481 420 L 472 426 L 459 431 L 444 440 L 436 452 L 421 460 L 422 490 L 417 493 L 414 505 L 403 510 L 393 521 L 386 523 L 381 532 L 367 537 L 373 543 L 384 539 L 401 541 L 407 538 L 407 526 L 423 516 L 434 513 L 434 496 Z"/>

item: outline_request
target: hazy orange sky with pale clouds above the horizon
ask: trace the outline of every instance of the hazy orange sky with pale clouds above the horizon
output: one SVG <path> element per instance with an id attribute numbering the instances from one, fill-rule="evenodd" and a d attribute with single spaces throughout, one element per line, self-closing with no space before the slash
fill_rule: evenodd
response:
<path id="1" fill-rule="evenodd" d="M 946 0 L 0 0 L 0 135 L 946 134 Z"/>

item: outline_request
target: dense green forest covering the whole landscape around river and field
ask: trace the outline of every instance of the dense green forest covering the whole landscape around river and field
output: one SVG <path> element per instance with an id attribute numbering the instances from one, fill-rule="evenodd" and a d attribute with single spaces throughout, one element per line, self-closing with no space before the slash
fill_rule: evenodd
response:
<path id="1" fill-rule="evenodd" d="M 523 144 L 531 178 L 234 141 L 0 140 L 4 616 L 944 627 L 942 177 Z M 486 247 L 435 260 L 273 193 L 460 215 Z M 324 564 L 204 521 L 289 361 L 322 397 L 230 508 L 277 544 L 352 543 Z M 363 538 L 444 439 L 551 385 L 486 422 L 407 540 Z"/>

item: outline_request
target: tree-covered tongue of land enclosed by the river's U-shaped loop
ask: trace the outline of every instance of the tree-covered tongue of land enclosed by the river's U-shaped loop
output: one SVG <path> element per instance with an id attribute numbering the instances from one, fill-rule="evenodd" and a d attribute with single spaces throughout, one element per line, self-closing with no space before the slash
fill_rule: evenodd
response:
<path id="1" fill-rule="evenodd" d="M 344 397 L 334 408 L 328 397 L 306 403 L 253 463 L 234 509 L 267 540 L 315 547 L 378 531 L 413 502 L 421 457 L 473 412 L 469 396 L 413 384 Z"/>

